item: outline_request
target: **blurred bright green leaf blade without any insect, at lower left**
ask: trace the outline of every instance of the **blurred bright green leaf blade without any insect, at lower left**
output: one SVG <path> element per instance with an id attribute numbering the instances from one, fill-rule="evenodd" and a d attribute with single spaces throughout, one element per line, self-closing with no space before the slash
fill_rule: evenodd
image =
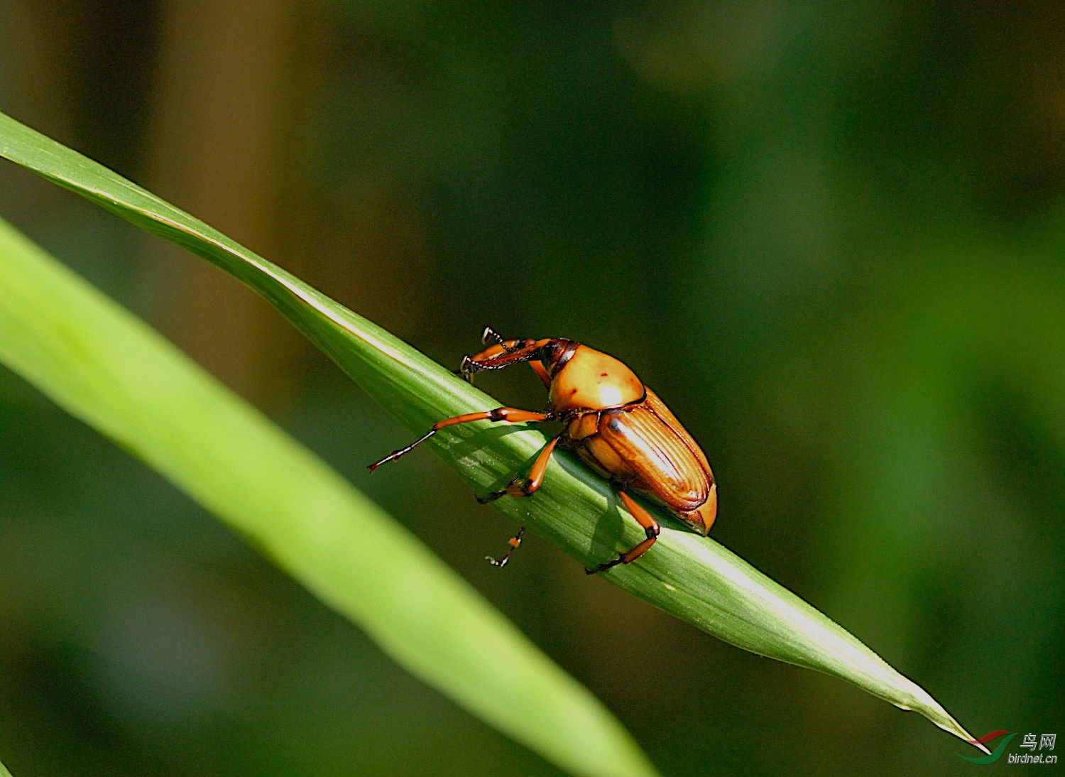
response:
<path id="1" fill-rule="evenodd" d="M 584 686 L 405 529 L 2 221 L 0 290 L 0 359 L 240 530 L 414 675 L 574 774 L 654 774 Z"/>

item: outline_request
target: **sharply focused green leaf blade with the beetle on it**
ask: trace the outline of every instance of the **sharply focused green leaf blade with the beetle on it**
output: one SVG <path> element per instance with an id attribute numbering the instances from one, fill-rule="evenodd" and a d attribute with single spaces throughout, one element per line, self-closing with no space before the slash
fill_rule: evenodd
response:
<path id="1" fill-rule="evenodd" d="M 243 280 L 413 433 L 441 418 L 499 404 L 198 220 L 2 116 L 0 155 Z M 498 488 L 527 466 L 545 439 L 534 430 L 491 426 L 470 424 L 431 440 L 479 490 Z M 535 498 L 494 504 L 588 566 L 642 538 L 635 522 L 619 512 L 608 485 L 566 454 L 556 454 L 545 486 Z M 657 515 L 663 525 L 653 551 L 636 564 L 616 567 L 604 576 L 607 580 L 726 642 L 840 677 L 971 741 L 928 693 L 845 629 L 717 543 L 676 528 L 660 511 Z"/>

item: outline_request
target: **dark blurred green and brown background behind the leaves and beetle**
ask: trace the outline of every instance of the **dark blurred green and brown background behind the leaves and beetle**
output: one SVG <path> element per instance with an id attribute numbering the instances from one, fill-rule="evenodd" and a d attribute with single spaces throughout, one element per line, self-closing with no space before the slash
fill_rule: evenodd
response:
<path id="1" fill-rule="evenodd" d="M 1062 728 L 1065 4 L 0 0 L 0 110 L 445 365 L 486 324 L 622 358 L 707 451 L 717 540 L 974 735 Z M 404 521 L 666 774 L 976 768 L 543 540 L 490 567 L 513 527 L 428 452 L 370 479 L 411 435 L 251 292 L 10 164 L 0 213 Z M 544 401 L 531 372 L 478 385 Z M 2 368 L 0 758 L 556 773 Z"/>

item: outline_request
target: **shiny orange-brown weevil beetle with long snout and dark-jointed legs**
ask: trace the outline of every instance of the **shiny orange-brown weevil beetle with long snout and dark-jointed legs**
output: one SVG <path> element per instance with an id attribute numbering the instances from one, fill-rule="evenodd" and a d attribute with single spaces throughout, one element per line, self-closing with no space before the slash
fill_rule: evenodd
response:
<path id="1" fill-rule="evenodd" d="M 636 561 L 658 537 L 658 521 L 629 496 L 630 490 L 666 505 L 703 536 L 709 533 L 718 513 L 718 490 L 706 454 L 676 416 L 628 367 L 612 356 L 561 338 L 504 340 L 486 327 L 481 344 L 488 347 L 464 356 L 458 374 L 472 381 L 477 372 L 527 362 L 547 388 L 546 409 L 537 412 L 496 407 L 445 418 L 406 448 L 368 465 L 371 472 L 409 453 L 440 430 L 458 423 L 561 421 L 562 432 L 540 450 L 527 475 L 515 474 L 506 488 L 478 497 L 477 501 L 484 504 L 501 497 L 531 497 L 543 483 L 552 452 L 559 448 L 576 453 L 607 477 L 646 535 L 617 559 L 586 569 L 589 574 Z M 488 561 L 498 567 L 506 566 L 524 533 L 522 527 L 511 537 L 507 553 L 498 560 L 488 556 Z"/>

